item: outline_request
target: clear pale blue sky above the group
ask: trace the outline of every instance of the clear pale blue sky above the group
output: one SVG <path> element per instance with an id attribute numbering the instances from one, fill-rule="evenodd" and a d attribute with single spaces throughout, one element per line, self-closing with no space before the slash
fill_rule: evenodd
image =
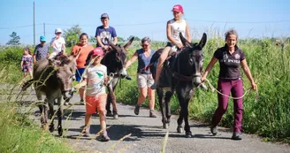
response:
<path id="1" fill-rule="evenodd" d="M 95 36 L 106 12 L 118 36 L 149 36 L 166 41 L 166 22 L 173 18 L 172 6 L 181 4 L 193 39 L 202 33 L 222 36 L 235 28 L 240 38 L 290 36 L 289 0 L 4 0 L 0 5 L 0 45 L 12 32 L 22 44 L 34 43 L 33 3 L 35 3 L 35 43 L 44 34 L 50 40 L 57 27 L 80 25 L 82 32 Z"/>

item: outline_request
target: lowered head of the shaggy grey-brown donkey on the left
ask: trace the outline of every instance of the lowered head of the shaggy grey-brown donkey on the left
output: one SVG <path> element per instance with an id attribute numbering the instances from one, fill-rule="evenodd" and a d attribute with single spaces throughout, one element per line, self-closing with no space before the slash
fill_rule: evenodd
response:
<path id="1" fill-rule="evenodd" d="M 72 81 L 75 79 L 76 62 L 73 56 L 62 57 L 56 60 L 50 59 L 50 65 L 53 66 L 57 82 L 60 84 L 60 90 L 65 99 L 72 98 Z"/>

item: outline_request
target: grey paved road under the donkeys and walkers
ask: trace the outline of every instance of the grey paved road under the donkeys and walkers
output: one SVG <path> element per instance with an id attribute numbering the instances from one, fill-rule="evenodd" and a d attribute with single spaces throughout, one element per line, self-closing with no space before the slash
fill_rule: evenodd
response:
<path id="1" fill-rule="evenodd" d="M 73 149 L 80 152 L 160 152 L 167 131 L 162 128 L 160 114 L 156 119 L 151 119 L 149 118 L 149 110 L 141 108 L 140 115 L 136 116 L 133 106 L 118 103 L 119 119 L 111 117 L 107 119 L 107 124 L 110 126 L 108 132 L 111 142 L 99 142 L 94 139 L 95 134 L 100 129 L 97 115 L 92 119 L 90 137 L 80 136 L 80 131 L 84 125 L 85 106 L 75 104 L 78 101 L 78 96 L 72 98 L 74 105 L 65 114 L 65 137 L 61 138 Z M 71 116 L 69 111 L 72 111 Z M 36 117 L 34 118 L 36 123 L 40 123 L 37 109 L 34 109 L 34 117 Z M 243 134 L 242 141 L 233 141 L 230 139 L 232 133 L 228 129 L 220 129 L 217 136 L 211 136 L 209 126 L 196 121 L 191 121 L 190 126 L 194 136 L 193 138 L 185 138 L 184 134 L 176 133 L 176 117 L 172 117 L 165 152 L 290 152 L 289 146 L 262 142 L 256 135 Z M 57 136 L 57 131 L 53 134 Z M 119 141 L 126 135 L 126 139 Z"/>

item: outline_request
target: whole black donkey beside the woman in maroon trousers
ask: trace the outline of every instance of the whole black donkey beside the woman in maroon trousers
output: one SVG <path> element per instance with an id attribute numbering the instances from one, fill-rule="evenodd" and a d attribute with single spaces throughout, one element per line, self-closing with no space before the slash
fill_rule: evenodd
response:
<path id="1" fill-rule="evenodd" d="M 201 83 L 202 74 L 202 48 L 207 41 L 207 35 L 202 35 L 202 40 L 199 43 L 190 43 L 179 33 L 180 40 L 184 46 L 179 51 L 177 56 L 172 56 L 164 62 L 164 69 L 161 73 L 159 86 L 156 88 L 159 105 L 162 112 L 162 122 L 164 128 L 168 128 L 171 118 L 170 100 L 174 91 L 176 91 L 179 99 L 179 119 L 177 132 L 183 133 L 182 121 L 185 121 L 186 137 L 191 137 L 192 133 L 188 125 L 188 103 L 194 94 L 194 88 L 197 88 Z M 156 63 L 156 59 L 160 57 L 161 51 L 157 50 L 151 58 L 150 63 Z M 150 71 L 155 78 L 156 65 L 150 66 Z M 164 88 L 170 88 L 165 92 Z"/>

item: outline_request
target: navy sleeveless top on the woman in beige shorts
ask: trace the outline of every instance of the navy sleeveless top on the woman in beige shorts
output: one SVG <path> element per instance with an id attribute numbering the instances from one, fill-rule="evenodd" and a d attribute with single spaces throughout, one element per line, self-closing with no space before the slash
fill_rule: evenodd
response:
<path id="1" fill-rule="evenodd" d="M 137 73 L 144 73 L 149 74 L 149 69 L 143 70 L 145 66 L 150 64 L 150 60 L 155 53 L 155 50 L 151 50 L 149 57 L 145 56 L 145 51 L 143 49 L 136 50 L 136 53 L 138 54 L 138 68 Z"/>

